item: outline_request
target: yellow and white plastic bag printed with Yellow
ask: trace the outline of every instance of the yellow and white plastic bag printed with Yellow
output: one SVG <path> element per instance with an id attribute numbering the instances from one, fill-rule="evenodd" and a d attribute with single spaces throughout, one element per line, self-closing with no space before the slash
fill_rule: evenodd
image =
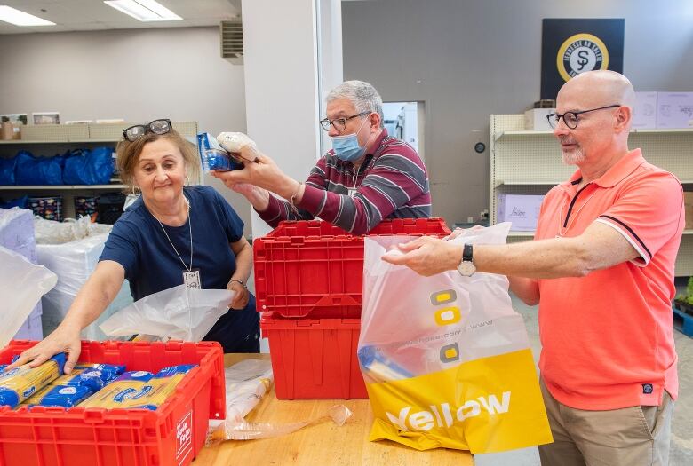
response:
<path id="1" fill-rule="evenodd" d="M 509 225 L 451 241 L 505 243 Z M 422 277 L 380 259 L 406 241 L 365 239 L 358 355 L 376 418 L 370 440 L 474 454 L 552 442 L 506 277 L 456 271 Z"/>

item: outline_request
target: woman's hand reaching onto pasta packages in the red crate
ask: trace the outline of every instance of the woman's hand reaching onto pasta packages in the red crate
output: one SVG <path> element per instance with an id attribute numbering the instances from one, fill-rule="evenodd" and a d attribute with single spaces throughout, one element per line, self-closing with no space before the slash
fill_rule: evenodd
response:
<path id="1" fill-rule="evenodd" d="M 63 351 L 68 353 L 68 360 L 65 363 L 65 374 L 69 374 L 75 367 L 77 359 L 79 359 L 79 353 L 82 351 L 79 328 L 60 325 L 51 335 L 46 336 L 43 341 L 22 352 L 20 358 L 9 365 L 7 369 L 19 367 L 27 363 L 29 363 L 29 367 L 38 367 Z"/>

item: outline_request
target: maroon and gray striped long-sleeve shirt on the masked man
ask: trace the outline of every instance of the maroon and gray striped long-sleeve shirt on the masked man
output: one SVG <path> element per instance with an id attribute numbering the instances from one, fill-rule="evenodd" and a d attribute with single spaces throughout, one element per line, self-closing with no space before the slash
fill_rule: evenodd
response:
<path id="1" fill-rule="evenodd" d="M 368 233 L 386 218 L 431 217 L 428 172 L 421 157 L 385 129 L 375 147 L 358 170 L 328 152 L 311 170 L 298 209 L 270 196 L 259 216 L 273 227 L 281 220 L 320 217 L 354 234 Z"/>

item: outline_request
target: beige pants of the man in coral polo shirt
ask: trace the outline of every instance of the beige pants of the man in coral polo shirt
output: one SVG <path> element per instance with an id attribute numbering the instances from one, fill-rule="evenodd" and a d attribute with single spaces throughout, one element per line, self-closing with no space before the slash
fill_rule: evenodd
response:
<path id="1" fill-rule="evenodd" d="M 669 464 L 673 400 L 658 407 L 585 411 L 562 405 L 540 381 L 554 443 L 539 446 L 542 466 Z"/>

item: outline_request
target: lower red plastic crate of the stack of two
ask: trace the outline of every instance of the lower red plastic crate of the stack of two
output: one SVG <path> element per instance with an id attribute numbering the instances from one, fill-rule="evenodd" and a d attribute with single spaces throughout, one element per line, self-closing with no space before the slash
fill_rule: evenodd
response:
<path id="1" fill-rule="evenodd" d="M 262 312 L 278 399 L 367 399 L 356 349 L 360 319 L 289 319 Z"/>

